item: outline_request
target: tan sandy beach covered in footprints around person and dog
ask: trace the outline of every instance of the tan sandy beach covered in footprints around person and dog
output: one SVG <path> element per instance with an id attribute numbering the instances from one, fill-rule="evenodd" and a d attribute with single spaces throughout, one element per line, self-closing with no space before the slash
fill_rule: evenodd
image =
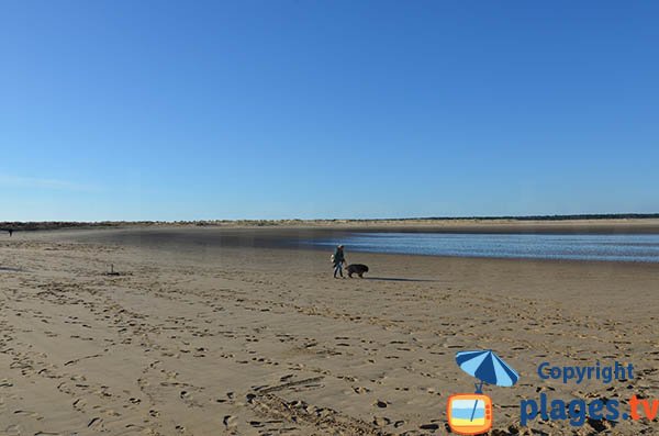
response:
<path id="1" fill-rule="evenodd" d="M 444 435 L 448 396 L 473 390 L 455 353 L 473 348 L 521 373 L 485 388 L 492 434 L 659 431 L 518 424 L 520 401 L 540 392 L 659 398 L 659 266 L 348 251 L 369 279 L 334 280 L 328 253 L 278 248 L 309 232 L 3 236 L 0 435 Z M 616 359 L 635 379 L 536 374 L 544 360 Z"/>

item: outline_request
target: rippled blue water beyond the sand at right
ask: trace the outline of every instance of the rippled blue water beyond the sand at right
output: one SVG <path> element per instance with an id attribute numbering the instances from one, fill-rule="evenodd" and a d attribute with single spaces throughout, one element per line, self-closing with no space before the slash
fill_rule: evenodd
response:
<path id="1" fill-rule="evenodd" d="M 659 235 L 353 233 L 306 243 L 340 243 L 351 251 L 659 262 Z"/>

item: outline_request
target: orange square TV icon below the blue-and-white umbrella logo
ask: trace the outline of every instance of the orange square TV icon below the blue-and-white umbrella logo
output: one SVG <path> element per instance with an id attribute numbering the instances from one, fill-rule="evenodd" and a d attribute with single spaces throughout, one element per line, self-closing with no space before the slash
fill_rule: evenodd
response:
<path id="1" fill-rule="evenodd" d="M 492 428 L 492 400 L 482 393 L 457 393 L 448 398 L 446 416 L 451 432 L 480 435 Z"/>

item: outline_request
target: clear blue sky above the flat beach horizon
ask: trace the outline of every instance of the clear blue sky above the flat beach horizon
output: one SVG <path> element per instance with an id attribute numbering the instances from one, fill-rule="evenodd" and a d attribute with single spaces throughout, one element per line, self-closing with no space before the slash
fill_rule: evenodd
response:
<path id="1" fill-rule="evenodd" d="M 0 221 L 659 212 L 657 1 L 2 1 Z"/>

